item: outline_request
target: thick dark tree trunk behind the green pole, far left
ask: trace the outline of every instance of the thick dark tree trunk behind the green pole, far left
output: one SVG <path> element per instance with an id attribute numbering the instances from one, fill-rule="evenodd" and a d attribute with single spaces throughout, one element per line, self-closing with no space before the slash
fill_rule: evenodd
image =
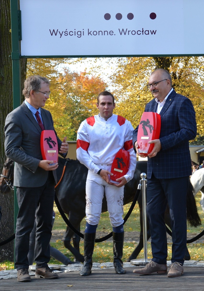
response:
<path id="1" fill-rule="evenodd" d="M 10 0 L 0 0 L 0 171 L 6 160 L 4 152 L 4 124 L 13 110 Z M 26 59 L 21 60 L 21 86 L 26 78 Z M 0 194 L 2 218 L 0 242 L 14 233 L 14 194 Z M 0 246 L 0 262 L 14 260 L 14 242 Z"/>

